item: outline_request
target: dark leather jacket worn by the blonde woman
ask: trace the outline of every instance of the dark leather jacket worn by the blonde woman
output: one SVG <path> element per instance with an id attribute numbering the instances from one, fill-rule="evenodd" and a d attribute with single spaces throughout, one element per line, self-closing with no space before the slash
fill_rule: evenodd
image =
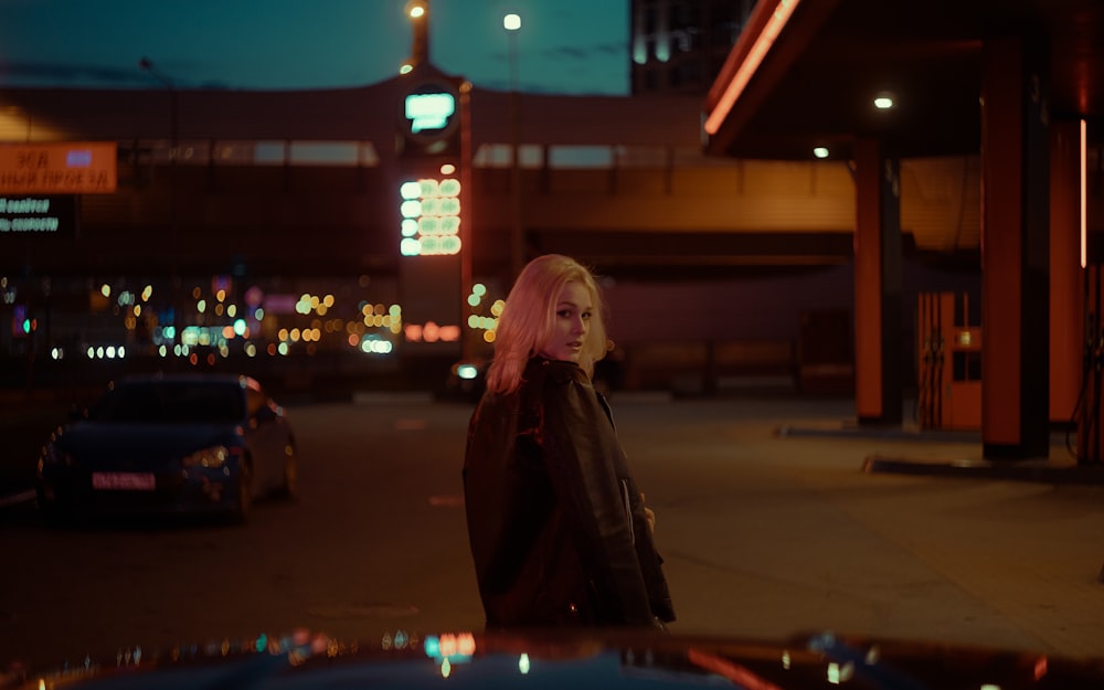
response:
<path id="1" fill-rule="evenodd" d="M 609 408 L 575 363 L 534 358 L 518 391 L 484 395 L 464 491 L 489 627 L 675 619 Z"/>

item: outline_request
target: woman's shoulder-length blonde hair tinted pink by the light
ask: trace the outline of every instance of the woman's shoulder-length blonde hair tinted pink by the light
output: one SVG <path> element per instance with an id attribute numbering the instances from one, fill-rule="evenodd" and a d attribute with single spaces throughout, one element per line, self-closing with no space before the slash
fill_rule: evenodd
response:
<path id="1" fill-rule="evenodd" d="M 506 298 L 495 337 L 495 360 L 487 370 L 487 389 L 510 393 L 521 385 L 526 363 L 555 332 L 555 300 L 569 283 L 581 283 L 591 294 L 591 326 L 578 358 L 586 375 L 606 355 L 606 328 L 602 293 L 591 270 L 562 254 L 545 254 L 529 262 Z"/>

